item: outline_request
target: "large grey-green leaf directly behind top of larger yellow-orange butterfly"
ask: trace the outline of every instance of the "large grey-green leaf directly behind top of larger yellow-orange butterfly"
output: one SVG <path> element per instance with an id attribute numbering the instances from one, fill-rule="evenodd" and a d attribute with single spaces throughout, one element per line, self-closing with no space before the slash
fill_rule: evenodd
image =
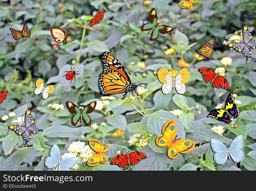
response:
<path id="1" fill-rule="evenodd" d="M 170 111 L 166 110 L 159 110 L 154 113 L 150 113 L 147 116 L 147 130 L 150 132 L 149 129 L 152 130 L 153 133 L 157 135 L 162 135 L 162 128 L 163 125 L 170 119 L 173 119 L 177 125 L 177 134 L 179 138 L 185 138 L 185 131 L 184 128 L 179 121 L 179 119 Z"/>

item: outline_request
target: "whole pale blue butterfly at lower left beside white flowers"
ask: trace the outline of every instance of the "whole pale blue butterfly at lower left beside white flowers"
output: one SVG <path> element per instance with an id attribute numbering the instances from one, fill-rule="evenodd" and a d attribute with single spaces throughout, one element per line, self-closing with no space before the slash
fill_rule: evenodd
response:
<path id="1" fill-rule="evenodd" d="M 58 170 L 69 170 L 77 163 L 77 157 L 61 158 L 61 151 L 56 144 L 51 146 L 49 156 L 47 156 L 45 159 L 45 166 L 49 169 L 56 166 L 55 169 Z"/>

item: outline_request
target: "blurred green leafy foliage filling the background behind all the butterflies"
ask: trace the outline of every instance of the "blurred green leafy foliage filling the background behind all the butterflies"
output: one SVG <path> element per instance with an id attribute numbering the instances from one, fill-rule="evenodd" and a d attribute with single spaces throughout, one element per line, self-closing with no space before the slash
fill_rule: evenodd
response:
<path id="1" fill-rule="evenodd" d="M 91 138 L 110 145 L 107 153 L 109 161 L 120 150 L 120 146 L 128 147 L 131 151 L 140 149 L 147 155 L 146 159 L 129 167 L 129 170 L 256 170 L 256 54 L 253 51 L 249 63 L 245 63 L 246 58 L 241 53 L 231 51 L 226 46 L 234 31 L 241 30 L 243 25 L 256 34 L 255 9 L 252 8 L 255 1 L 198 1 L 192 11 L 179 8 L 178 2 L 154 0 L 146 5 L 140 0 L 2 0 L 0 90 L 8 90 L 9 93 L 0 106 L 0 115 L 13 111 L 19 117 L 30 108 L 37 126 L 45 128 L 45 132 L 34 136 L 33 148 L 24 148 L 21 138 L 11 131 L 7 133 L 11 120 L 2 120 L 0 170 L 46 170 L 44 158 L 48 156 L 52 144 L 58 144 L 61 152 L 65 153 L 72 142 L 87 142 Z M 166 24 L 175 28 L 171 35 L 160 34 L 154 42 L 149 40 L 146 32 L 140 31 L 152 7 L 156 8 L 161 20 L 166 20 Z M 92 18 L 88 16 L 92 13 L 95 15 L 99 10 L 106 11 L 104 19 L 97 26 L 88 27 L 88 21 Z M 21 30 L 24 23 L 31 29 L 31 37 L 14 40 L 9 28 Z M 57 48 L 53 49 L 56 43 L 51 37 L 51 27 L 66 27 L 68 33 L 72 34 L 72 41 L 64 45 L 57 44 Z M 210 60 L 194 60 L 191 47 L 199 48 L 211 38 L 217 40 L 214 56 Z M 175 49 L 171 56 L 164 53 L 170 47 Z M 90 114 L 92 124 L 105 122 L 106 126 L 99 126 L 95 130 L 82 124 L 74 128 L 70 123 L 71 114 L 66 108 L 57 111 L 47 105 L 65 105 L 67 100 L 79 104 L 101 100 L 97 79 L 102 72 L 99 55 L 103 51 L 112 52 L 120 60 L 134 84 L 148 83 L 147 92 L 140 98 L 146 109 L 146 117 L 131 106 L 136 102 L 120 100 L 122 94 L 117 94 L 107 108 Z M 229 125 L 206 118 L 209 111 L 214 109 L 212 101 L 219 102 L 219 95 L 222 94 L 225 99 L 230 91 L 206 84 L 197 69 L 223 66 L 220 60 L 224 56 L 232 58 L 232 65 L 225 66 L 228 70 L 225 78 L 230 83 L 230 91 L 238 95 L 235 99 L 241 101 L 238 105 L 239 117 L 232 121 L 232 125 L 238 128 L 230 128 Z M 180 58 L 187 63 L 193 62 L 186 93 L 182 96 L 172 91 L 165 95 L 161 92 L 161 83 L 154 71 L 158 67 L 179 70 L 177 64 Z M 137 64 L 142 61 L 147 65 L 144 69 Z M 71 65 L 80 73 L 72 84 L 62 77 Z M 39 77 L 45 84 L 55 84 L 54 93 L 46 100 L 33 94 L 35 80 Z M 136 108 L 141 109 L 138 106 Z M 178 108 L 184 112 L 179 118 L 169 112 Z M 197 144 L 198 147 L 192 153 L 198 160 L 190 153 L 180 154 L 171 160 L 167 157 L 166 149 L 156 146 L 155 138 L 161 135 L 162 126 L 169 119 L 176 121 L 180 137 L 191 139 Z M 226 129 L 223 136 L 210 129 L 218 125 Z M 113 136 L 112 133 L 117 129 L 125 131 L 125 135 L 120 138 Z M 144 137 L 152 134 L 148 145 L 143 148 L 129 145 L 128 140 L 134 133 Z M 241 134 L 245 140 L 243 161 L 236 164 L 227 160 L 225 165 L 216 165 L 209 140 L 216 138 L 228 145 Z M 6 155 L 13 147 L 14 151 Z M 109 162 L 96 167 L 84 164 L 79 170 L 122 170 Z"/>

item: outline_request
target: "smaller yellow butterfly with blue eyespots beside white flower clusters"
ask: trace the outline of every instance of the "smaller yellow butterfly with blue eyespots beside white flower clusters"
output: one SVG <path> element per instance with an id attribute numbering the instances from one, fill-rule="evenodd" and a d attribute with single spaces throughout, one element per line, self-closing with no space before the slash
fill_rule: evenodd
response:
<path id="1" fill-rule="evenodd" d="M 99 162 L 105 164 L 109 161 L 109 158 L 105 155 L 105 152 L 109 150 L 108 144 L 101 144 L 98 140 L 91 139 L 89 145 L 96 153 L 88 159 L 88 166 L 96 166 Z"/>

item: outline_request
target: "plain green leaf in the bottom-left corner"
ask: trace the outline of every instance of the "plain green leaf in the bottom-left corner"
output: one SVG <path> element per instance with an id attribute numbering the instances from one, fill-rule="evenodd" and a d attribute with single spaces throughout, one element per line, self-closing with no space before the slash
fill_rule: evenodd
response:
<path id="1" fill-rule="evenodd" d="M 18 170 L 19 165 L 24 158 L 28 155 L 30 149 L 15 151 L 9 156 L 1 165 L 0 170 Z"/>

